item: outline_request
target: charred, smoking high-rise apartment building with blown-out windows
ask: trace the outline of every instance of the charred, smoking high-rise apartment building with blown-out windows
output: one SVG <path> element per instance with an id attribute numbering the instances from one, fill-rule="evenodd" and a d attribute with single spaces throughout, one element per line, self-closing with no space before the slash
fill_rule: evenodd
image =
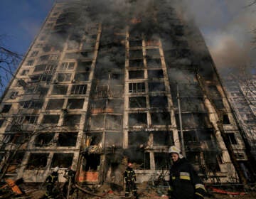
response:
<path id="1" fill-rule="evenodd" d="M 169 169 L 171 145 L 208 183 L 252 178 L 203 37 L 174 3 L 55 2 L 1 101 L 1 178 L 59 166 L 60 181 L 71 167 L 121 185 L 131 161 L 140 183 Z"/>

